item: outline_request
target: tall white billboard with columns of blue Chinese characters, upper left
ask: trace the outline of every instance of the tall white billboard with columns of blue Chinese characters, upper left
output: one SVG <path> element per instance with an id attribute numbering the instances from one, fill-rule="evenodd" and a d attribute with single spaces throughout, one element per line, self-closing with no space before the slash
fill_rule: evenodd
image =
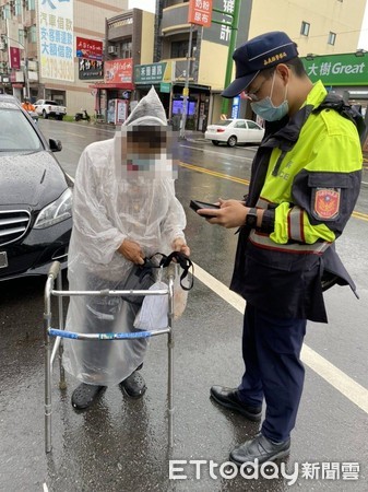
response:
<path id="1" fill-rule="evenodd" d="M 73 0 L 39 0 L 41 77 L 74 82 Z"/>

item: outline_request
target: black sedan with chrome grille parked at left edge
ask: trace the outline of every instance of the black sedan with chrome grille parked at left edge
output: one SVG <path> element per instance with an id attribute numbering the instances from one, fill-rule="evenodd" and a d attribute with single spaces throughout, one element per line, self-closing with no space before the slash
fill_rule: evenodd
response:
<path id="1" fill-rule="evenodd" d="M 17 99 L 0 95 L 0 281 L 67 267 L 72 180 Z"/>

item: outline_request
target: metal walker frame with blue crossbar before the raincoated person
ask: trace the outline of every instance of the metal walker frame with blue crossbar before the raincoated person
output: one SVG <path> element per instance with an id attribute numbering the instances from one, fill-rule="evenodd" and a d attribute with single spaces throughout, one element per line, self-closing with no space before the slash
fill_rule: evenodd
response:
<path id="1" fill-rule="evenodd" d="M 51 445 L 51 415 L 52 415 L 52 401 L 51 401 L 51 376 L 52 365 L 58 353 L 59 359 L 59 388 L 66 389 L 66 373 L 62 366 L 62 339 L 70 338 L 74 340 L 129 340 L 132 338 L 151 338 L 158 335 L 167 335 L 167 349 L 168 349 L 168 378 L 167 378 L 167 411 L 168 411 L 168 444 L 169 447 L 174 446 L 174 335 L 173 335 L 173 321 L 174 321 L 174 278 L 175 268 L 173 265 L 168 267 L 168 285 L 167 289 L 150 291 L 150 290 L 126 290 L 126 291 L 63 291 L 62 279 L 60 271 L 60 262 L 54 261 L 51 265 L 47 281 L 45 285 L 45 311 L 44 311 L 44 337 L 45 337 L 45 452 L 50 453 Z M 57 282 L 57 289 L 55 288 L 55 281 Z M 152 331 L 139 331 L 132 333 L 80 333 L 64 330 L 64 315 L 62 306 L 62 297 L 72 295 L 100 295 L 100 296 L 129 296 L 129 295 L 168 295 L 168 326 L 163 329 Z M 58 297 L 58 314 L 59 314 L 59 328 L 51 327 L 51 296 Z M 51 348 L 51 339 L 55 338 L 55 343 Z"/>

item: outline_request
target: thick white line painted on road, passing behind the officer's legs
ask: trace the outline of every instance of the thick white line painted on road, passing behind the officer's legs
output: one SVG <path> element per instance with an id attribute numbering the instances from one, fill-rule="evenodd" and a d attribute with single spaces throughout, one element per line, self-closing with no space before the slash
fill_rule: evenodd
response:
<path id="1" fill-rule="evenodd" d="M 203 270 L 199 265 L 194 265 L 194 276 L 219 297 L 244 314 L 246 306 L 244 298 L 235 292 L 232 292 L 226 285 Z M 356 383 L 306 344 L 304 344 L 301 350 L 301 360 L 320 377 L 337 389 L 337 391 L 368 413 L 368 389 Z"/>

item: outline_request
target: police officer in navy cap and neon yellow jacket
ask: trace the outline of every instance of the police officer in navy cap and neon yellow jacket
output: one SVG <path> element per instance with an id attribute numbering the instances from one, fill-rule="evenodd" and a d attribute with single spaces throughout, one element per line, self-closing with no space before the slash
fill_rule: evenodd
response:
<path id="1" fill-rule="evenodd" d="M 354 122 L 323 108 L 327 91 L 312 84 L 297 46 L 283 32 L 248 40 L 233 56 L 236 79 L 223 92 L 242 91 L 266 122 L 245 201 L 202 209 L 207 221 L 239 227 L 230 289 L 247 301 L 237 388 L 213 386 L 211 397 L 260 432 L 230 453 L 238 465 L 289 453 L 302 393 L 300 350 L 307 319 L 327 323 L 322 280 L 355 285 L 334 243 L 356 203 L 363 156 Z"/>

